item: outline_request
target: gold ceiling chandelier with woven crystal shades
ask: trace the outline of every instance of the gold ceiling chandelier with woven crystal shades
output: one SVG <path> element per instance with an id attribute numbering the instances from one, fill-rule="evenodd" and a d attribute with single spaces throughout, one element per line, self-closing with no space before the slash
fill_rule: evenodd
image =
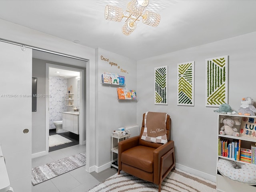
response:
<path id="1" fill-rule="evenodd" d="M 105 19 L 120 22 L 122 18 L 126 18 L 125 24 L 122 27 L 122 32 L 125 35 L 130 35 L 136 28 L 136 21 L 139 21 L 140 16 L 144 24 L 156 27 L 160 22 L 160 14 L 151 11 L 144 11 L 148 6 L 149 0 L 132 0 L 127 5 L 128 16 L 123 14 L 120 7 L 106 5 Z"/>

